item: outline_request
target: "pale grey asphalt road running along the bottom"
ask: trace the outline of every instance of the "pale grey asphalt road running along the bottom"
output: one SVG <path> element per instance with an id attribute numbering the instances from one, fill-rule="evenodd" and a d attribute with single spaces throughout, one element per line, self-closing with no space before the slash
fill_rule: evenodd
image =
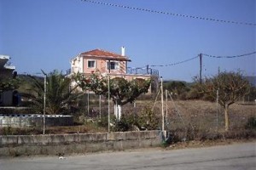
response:
<path id="1" fill-rule="evenodd" d="M 238 170 L 256 169 L 256 143 L 185 150 L 132 150 L 84 156 L 17 157 L 0 160 L 0 170 Z"/>

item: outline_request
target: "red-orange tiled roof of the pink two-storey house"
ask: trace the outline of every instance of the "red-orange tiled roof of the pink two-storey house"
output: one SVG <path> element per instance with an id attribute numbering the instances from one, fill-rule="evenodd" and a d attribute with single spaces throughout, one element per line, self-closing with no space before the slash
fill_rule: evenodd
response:
<path id="1" fill-rule="evenodd" d="M 124 61 L 131 61 L 126 56 L 122 56 L 121 54 L 115 54 L 112 52 L 108 52 L 102 49 L 94 49 L 88 52 L 84 52 L 81 54 L 82 56 L 88 56 L 88 57 L 96 57 L 101 59 L 111 59 L 111 60 L 124 60 Z"/>

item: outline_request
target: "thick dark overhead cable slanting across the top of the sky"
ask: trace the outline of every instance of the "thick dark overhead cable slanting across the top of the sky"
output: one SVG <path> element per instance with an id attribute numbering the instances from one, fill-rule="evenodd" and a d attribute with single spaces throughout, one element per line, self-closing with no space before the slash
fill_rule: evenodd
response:
<path id="1" fill-rule="evenodd" d="M 96 4 L 111 6 L 111 7 L 117 7 L 117 8 L 128 8 L 132 10 L 139 10 L 139 11 L 154 13 L 154 14 L 166 14 L 166 15 L 172 15 L 172 16 L 179 16 L 179 17 L 190 18 L 195 20 L 208 20 L 208 21 L 224 22 L 224 23 L 236 24 L 236 25 L 256 26 L 256 23 L 250 23 L 250 22 L 219 20 L 219 19 L 212 19 L 212 18 L 200 17 L 200 16 L 194 16 L 194 15 L 188 15 L 188 14 L 177 14 L 177 13 L 170 13 L 170 12 L 164 12 L 164 11 L 157 11 L 157 10 L 148 9 L 148 8 L 137 8 L 137 7 L 130 7 L 125 5 L 113 4 L 113 3 L 102 3 L 98 1 L 92 1 L 92 0 L 81 0 L 81 1 L 86 3 L 96 3 Z"/>

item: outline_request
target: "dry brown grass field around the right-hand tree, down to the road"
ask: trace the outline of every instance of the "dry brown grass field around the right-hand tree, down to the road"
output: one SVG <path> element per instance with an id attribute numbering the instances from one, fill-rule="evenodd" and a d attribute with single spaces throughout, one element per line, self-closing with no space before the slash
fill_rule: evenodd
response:
<path id="1" fill-rule="evenodd" d="M 143 105 L 143 102 L 140 104 Z M 256 105 L 230 105 L 230 131 L 224 131 L 224 109 L 217 104 L 203 100 L 175 100 L 167 103 L 166 130 L 172 133 L 172 140 L 191 139 L 247 139 L 255 138 L 254 129 L 246 129 L 248 119 L 256 117 Z M 142 106 L 141 106 L 142 107 Z M 164 105 L 166 116 L 166 104 Z M 160 101 L 154 111 L 161 117 Z"/>

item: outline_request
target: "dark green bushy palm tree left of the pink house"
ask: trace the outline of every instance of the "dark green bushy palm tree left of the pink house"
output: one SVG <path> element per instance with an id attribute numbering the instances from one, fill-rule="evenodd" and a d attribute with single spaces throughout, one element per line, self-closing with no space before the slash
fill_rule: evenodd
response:
<path id="1" fill-rule="evenodd" d="M 44 109 L 44 80 L 38 77 L 31 77 L 31 79 L 32 91 L 34 92 L 32 109 L 42 114 Z M 67 114 L 69 105 L 78 97 L 73 94 L 74 88 L 70 88 L 70 82 L 69 78 L 64 77 L 58 71 L 46 75 L 46 114 Z"/>

